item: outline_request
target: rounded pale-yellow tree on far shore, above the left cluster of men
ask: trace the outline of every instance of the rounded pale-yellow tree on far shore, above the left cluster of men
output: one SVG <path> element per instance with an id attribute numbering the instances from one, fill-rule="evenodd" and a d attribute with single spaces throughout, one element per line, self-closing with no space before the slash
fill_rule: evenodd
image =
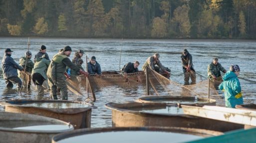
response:
<path id="1" fill-rule="evenodd" d="M 48 24 L 43 17 L 37 19 L 37 22 L 33 27 L 33 32 L 36 35 L 43 35 L 48 32 Z"/>

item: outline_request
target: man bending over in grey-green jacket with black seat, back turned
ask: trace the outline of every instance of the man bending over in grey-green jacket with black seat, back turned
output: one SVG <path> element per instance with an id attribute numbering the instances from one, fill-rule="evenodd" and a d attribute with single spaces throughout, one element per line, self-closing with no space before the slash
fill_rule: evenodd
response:
<path id="1" fill-rule="evenodd" d="M 32 81 L 34 82 L 37 95 L 39 98 L 43 97 L 44 89 L 49 89 L 48 80 L 46 76 L 47 68 L 50 65 L 50 61 L 45 59 L 45 55 L 36 57 L 34 63 L 34 69 L 32 70 Z"/>

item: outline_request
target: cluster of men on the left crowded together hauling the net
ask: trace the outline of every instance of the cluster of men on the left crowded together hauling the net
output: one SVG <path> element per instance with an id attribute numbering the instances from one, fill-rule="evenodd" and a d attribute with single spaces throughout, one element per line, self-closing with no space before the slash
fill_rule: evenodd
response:
<path id="1" fill-rule="evenodd" d="M 70 79 L 71 76 L 83 74 L 88 76 L 89 74 L 101 74 L 100 65 L 96 62 L 95 56 L 92 56 L 88 63 L 88 72 L 82 68 L 84 54 L 83 50 L 75 52 L 72 62 L 69 60 L 69 56 L 72 52 L 70 46 L 66 46 L 59 50 L 58 54 L 54 55 L 52 60 L 49 60 L 49 56 L 46 53 L 46 47 L 42 45 L 39 52 L 34 57 L 34 63 L 32 62 L 32 53 L 27 51 L 24 57 L 19 59 L 19 64 L 14 62 L 11 58 L 13 51 L 7 48 L 5 49 L 2 59 L 2 71 L 3 78 L 5 79 L 6 87 L 13 87 L 13 84 L 17 85 L 17 89 L 22 88 L 22 81 L 24 76 L 30 76 L 33 83 L 36 86 L 39 96 L 43 96 L 44 89 L 48 89 L 51 99 L 57 98 L 57 90 L 60 90 L 62 100 L 67 100 L 67 85 L 66 79 Z M 17 72 L 19 70 L 19 72 Z M 68 71 L 69 74 L 68 74 Z M 65 75 L 65 76 L 64 76 Z M 20 79 L 21 78 L 21 79 Z M 23 86 L 30 88 L 30 80 L 23 80 Z"/>

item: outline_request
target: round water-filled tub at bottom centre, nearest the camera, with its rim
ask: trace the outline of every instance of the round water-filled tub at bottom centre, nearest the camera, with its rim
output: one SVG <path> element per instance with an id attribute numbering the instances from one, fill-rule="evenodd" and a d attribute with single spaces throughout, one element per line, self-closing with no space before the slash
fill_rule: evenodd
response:
<path id="1" fill-rule="evenodd" d="M 195 139 L 223 135 L 202 129 L 170 128 L 170 127 L 128 127 L 128 128 L 94 128 L 81 129 L 69 133 L 58 134 L 52 143 L 156 143 L 156 142 L 188 142 Z"/>

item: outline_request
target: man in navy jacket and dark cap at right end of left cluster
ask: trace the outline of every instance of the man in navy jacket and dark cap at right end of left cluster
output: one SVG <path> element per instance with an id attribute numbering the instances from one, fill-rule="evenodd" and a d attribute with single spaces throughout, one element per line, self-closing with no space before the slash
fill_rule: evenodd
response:
<path id="1" fill-rule="evenodd" d="M 89 63 L 87 63 L 87 65 L 88 65 L 88 72 L 90 74 L 101 75 L 100 64 L 96 61 L 95 56 L 91 57 L 91 60 Z"/>

